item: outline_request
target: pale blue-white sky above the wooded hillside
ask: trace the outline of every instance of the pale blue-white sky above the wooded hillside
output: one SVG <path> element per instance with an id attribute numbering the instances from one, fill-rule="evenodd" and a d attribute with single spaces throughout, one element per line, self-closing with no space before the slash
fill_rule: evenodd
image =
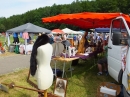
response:
<path id="1" fill-rule="evenodd" d="M 39 7 L 55 4 L 71 4 L 74 0 L 1 0 L 0 17 L 23 14 Z"/>

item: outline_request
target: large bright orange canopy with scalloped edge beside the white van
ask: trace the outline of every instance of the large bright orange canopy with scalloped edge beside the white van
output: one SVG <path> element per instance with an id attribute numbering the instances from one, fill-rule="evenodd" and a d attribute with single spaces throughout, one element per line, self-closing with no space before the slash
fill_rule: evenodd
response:
<path id="1" fill-rule="evenodd" d="M 64 23 L 75 25 L 80 28 L 98 28 L 98 27 L 110 27 L 111 20 L 123 16 L 128 25 L 130 25 L 130 18 L 123 13 L 95 13 L 95 12 L 83 12 L 74 14 L 59 14 L 52 17 L 42 18 L 44 23 Z"/>

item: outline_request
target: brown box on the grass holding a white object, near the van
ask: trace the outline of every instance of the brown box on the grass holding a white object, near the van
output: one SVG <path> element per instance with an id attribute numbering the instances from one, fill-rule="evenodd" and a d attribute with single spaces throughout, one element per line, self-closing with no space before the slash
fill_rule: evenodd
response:
<path id="1" fill-rule="evenodd" d="M 116 96 L 107 94 L 108 91 L 106 91 L 106 93 L 101 93 L 100 92 L 101 87 L 107 87 L 109 89 L 116 90 Z M 121 91 L 120 85 L 116 85 L 116 84 L 110 83 L 110 82 L 102 82 L 102 83 L 100 83 L 99 87 L 97 88 L 97 97 L 117 97 L 117 95 L 120 94 L 120 91 Z"/>

